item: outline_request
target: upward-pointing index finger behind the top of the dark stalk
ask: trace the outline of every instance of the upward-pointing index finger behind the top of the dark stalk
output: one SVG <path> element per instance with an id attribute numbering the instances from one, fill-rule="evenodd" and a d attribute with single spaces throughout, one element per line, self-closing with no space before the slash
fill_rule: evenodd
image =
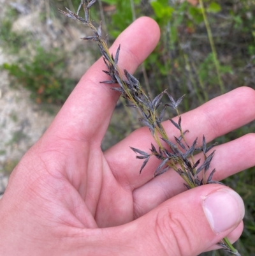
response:
<path id="1" fill-rule="evenodd" d="M 110 48 L 114 56 L 121 45 L 120 70 L 135 72 L 156 47 L 159 34 L 157 23 L 148 17 L 136 20 L 122 32 Z M 55 117 L 50 127 L 52 136 L 58 134 L 65 139 L 92 141 L 100 146 L 119 98 L 119 93 L 110 89 L 114 86 L 100 84 L 103 80 L 109 80 L 102 70 L 106 70 L 106 66 L 101 57 L 85 73 Z"/>

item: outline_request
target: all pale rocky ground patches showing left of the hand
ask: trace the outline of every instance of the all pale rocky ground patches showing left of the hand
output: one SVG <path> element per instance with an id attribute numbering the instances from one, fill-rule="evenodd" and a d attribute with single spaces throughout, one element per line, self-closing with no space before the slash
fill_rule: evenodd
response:
<path id="1" fill-rule="evenodd" d="M 41 45 L 45 49 L 53 45 L 74 52 L 67 72 L 78 80 L 93 62 L 91 53 L 86 51 L 85 47 L 82 53 L 75 52 L 82 43 L 84 44 L 78 40 L 80 36 L 85 36 L 84 30 L 77 28 L 75 24 L 63 27 L 58 20 L 50 18 L 48 18 L 47 24 L 41 24 L 40 9 L 45 3 L 47 4 L 48 1 L 34 0 L 34 5 L 28 5 L 25 0 L 15 2 L 0 0 L 0 18 L 3 17 L 3 10 L 6 6 L 12 4 L 15 8 L 20 8 L 19 11 L 22 13 L 13 23 L 13 31 L 31 31 L 36 39 L 41 41 Z M 63 31 L 66 33 L 66 37 L 62 36 Z M 33 53 L 33 51 L 32 47 L 31 52 Z M 12 61 L 15 61 L 15 56 L 6 55 L 5 50 L 0 48 L 0 65 Z M 51 106 L 52 108 L 54 113 L 59 110 L 59 107 Z M 11 170 L 29 147 L 47 130 L 53 119 L 54 114 L 43 110 L 41 105 L 34 103 L 29 98 L 29 91 L 22 87 L 12 88 L 8 73 L 0 71 L 0 198 L 8 183 Z M 108 132 L 103 147 L 108 147 L 110 140 L 112 137 Z"/>

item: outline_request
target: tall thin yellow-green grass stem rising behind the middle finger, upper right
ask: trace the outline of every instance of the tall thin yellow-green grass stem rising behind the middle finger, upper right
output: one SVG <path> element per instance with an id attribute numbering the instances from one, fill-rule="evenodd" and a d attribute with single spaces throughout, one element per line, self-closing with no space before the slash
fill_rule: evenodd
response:
<path id="1" fill-rule="evenodd" d="M 208 38 L 209 38 L 209 41 L 210 41 L 210 46 L 211 46 L 211 49 L 212 49 L 212 55 L 214 56 L 214 65 L 215 65 L 215 69 L 216 69 L 216 73 L 217 73 L 217 78 L 219 80 L 219 87 L 221 89 L 221 94 L 224 94 L 226 89 L 225 89 L 224 84 L 223 84 L 222 79 L 221 79 L 221 72 L 220 72 L 220 68 L 219 68 L 219 60 L 218 60 L 217 52 L 216 52 L 216 49 L 215 49 L 214 39 L 212 37 L 212 31 L 210 29 L 210 25 L 209 25 L 209 22 L 208 22 L 208 19 L 207 19 L 207 14 L 205 13 L 205 6 L 203 5 L 203 0 L 199 0 L 199 3 L 200 3 L 201 11 L 202 11 L 202 14 L 203 14 L 203 20 L 205 22 L 205 27 L 207 28 L 207 34 L 208 34 Z"/>

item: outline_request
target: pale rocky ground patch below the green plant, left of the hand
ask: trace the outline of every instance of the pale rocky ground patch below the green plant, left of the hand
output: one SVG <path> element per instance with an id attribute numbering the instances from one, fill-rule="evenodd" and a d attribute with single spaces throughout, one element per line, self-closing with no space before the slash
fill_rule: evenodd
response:
<path id="1" fill-rule="evenodd" d="M 1 58 L 3 54 L 0 60 Z M 54 116 L 40 110 L 40 106 L 29 98 L 29 91 L 23 88 L 12 89 L 6 72 L 0 72 L 0 77 L 1 196 L 11 170 L 27 149 L 45 132 Z"/>

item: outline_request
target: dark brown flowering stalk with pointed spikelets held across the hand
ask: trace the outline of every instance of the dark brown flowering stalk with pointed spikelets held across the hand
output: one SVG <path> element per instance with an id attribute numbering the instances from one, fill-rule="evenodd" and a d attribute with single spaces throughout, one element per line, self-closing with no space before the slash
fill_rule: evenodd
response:
<path id="1" fill-rule="evenodd" d="M 103 39 L 101 23 L 99 24 L 99 27 L 97 29 L 91 22 L 90 9 L 94 3 L 96 3 L 96 0 L 81 0 L 77 13 L 73 13 L 72 11 L 68 10 L 68 8 L 66 8 L 67 12 L 61 10 L 59 11 L 62 14 L 66 15 L 66 17 L 78 20 L 82 22 L 82 24 L 91 27 L 94 35 L 87 36 L 81 39 L 96 41 L 98 43 L 98 47 L 103 56 L 103 61 L 105 62 L 107 68 L 107 70 L 103 70 L 103 72 L 105 72 L 110 77 L 110 80 L 106 80 L 101 83 L 118 84 L 118 87 L 112 87 L 112 89 L 114 91 L 118 91 L 123 98 L 129 101 L 128 107 L 133 107 L 140 111 L 140 114 L 142 115 L 140 121 L 149 128 L 158 149 L 156 149 L 154 144 L 151 144 L 151 153 L 148 154 L 140 149 L 131 147 L 131 149 L 136 154 L 138 154 L 136 158 L 143 159 L 140 173 L 149 161 L 149 158 L 151 156 L 155 156 L 156 158 L 161 160 L 161 163 L 155 170 L 154 177 L 163 174 L 164 172 L 166 172 L 166 170 L 171 168 L 184 179 L 184 181 L 186 182 L 184 185 L 187 189 L 195 188 L 196 186 L 201 186 L 203 184 L 219 183 L 218 181 L 212 180 L 215 169 L 212 170 L 212 172 L 210 172 L 207 177 L 207 171 L 210 167 L 210 163 L 212 161 L 212 158 L 214 157 L 215 151 L 213 151 L 209 155 L 207 153 L 208 151 L 210 151 L 210 149 L 212 149 L 212 147 L 215 146 L 215 144 L 207 147 L 204 136 L 202 147 L 196 147 L 198 138 L 194 140 L 193 144 L 187 144 L 185 134 L 189 131 L 182 130 L 182 117 L 180 116 L 178 110 L 178 106 L 184 96 L 179 98 L 179 100 L 175 101 L 170 94 L 168 94 L 166 91 L 163 91 L 152 100 L 150 99 L 150 96 L 148 96 L 145 91 L 143 91 L 140 82 L 133 75 L 131 75 L 127 70 L 124 70 L 125 76 L 122 75 L 118 66 L 120 45 L 117 49 L 115 56 L 113 57 L 113 54 L 110 54 L 109 52 L 106 40 Z M 85 13 L 84 18 L 79 16 L 79 12 L 82 8 Z M 161 105 L 161 99 L 164 95 L 168 96 L 170 103 L 165 104 L 163 106 L 163 109 L 159 112 L 159 114 L 157 114 L 159 106 Z M 173 126 L 175 126 L 180 132 L 179 138 L 174 137 L 175 143 L 171 142 L 171 140 L 168 138 L 168 135 L 166 134 L 162 125 L 164 112 L 168 107 L 174 109 L 177 112 L 177 116 L 179 117 L 178 123 L 176 123 L 172 119 L 169 119 L 170 123 L 173 124 Z M 165 147 L 164 145 L 167 145 L 167 147 Z M 204 162 L 201 165 L 200 160 L 196 162 L 194 160 L 195 151 L 203 152 Z M 230 253 L 240 255 L 237 250 L 233 248 L 227 238 L 224 238 L 221 242 L 217 243 L 217 245 L 221 246 L 222 248 L 224 248 L 224 250 L 227 250 Z"/>

